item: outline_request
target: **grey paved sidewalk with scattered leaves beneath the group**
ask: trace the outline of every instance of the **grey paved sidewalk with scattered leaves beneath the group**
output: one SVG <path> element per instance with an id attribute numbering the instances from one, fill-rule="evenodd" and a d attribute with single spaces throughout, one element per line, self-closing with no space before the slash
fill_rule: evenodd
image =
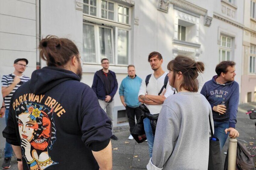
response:
<path id="1" fill-rule="evenodd" d="M 236 129 L 240 133 L 238 138 L 246 147 L 256 146 L 256 127 L 254 123 L 256 120 L 249 119 L 246 115 L 248 109 L 256 108 L 256 103 L 241 104 L 239 105 L 237 114 Z M 0 131 L 4 128 L 4 119 L 0 119 Z M 135 140 L 128 140 L 130 135 L 129 126 L 121 126 L 114 128 L 115 135 L 119 138 L 118 141 L 112 142 L 113 148 L 113 170 L 142 170 L 146 169 L 146 165 L 149 161 L 148 145 L 147 142 L 137 144 Z M 4 150 L 4 138 L 2 133 L 0 134 L 0 165 L 3 162 L 3 150 Z M 129 142 L 129 143 L 127 143 Z M 228 140 L 222 150 L 222 160 L 225 161 L 226 155 L 224 152 L 227 151 Z M 256 152 L 253 151 L 252 154 Z M 256 157 L 254 157 L 256 158 Z M 254 159 L 256 163 L 256 159 Z M 15 158 L 12 158 L 10 170 L 17 169 L 17 163 Z"/>

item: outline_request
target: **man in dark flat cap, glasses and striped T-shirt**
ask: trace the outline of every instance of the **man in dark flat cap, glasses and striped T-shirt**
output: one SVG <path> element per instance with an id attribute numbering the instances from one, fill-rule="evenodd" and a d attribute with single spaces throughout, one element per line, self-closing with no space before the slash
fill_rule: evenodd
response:
<path id="1" fill-rule="evenodd" d="M 23 73 L 27 68 L 28 60 L 26 58 L 18 58 L 14 60 L 14 73 L 4 75 L 2 77 L 2 94 L 4 97 L 5 106 L 1 107 L 0 118 L 5 115 L 5 122 L 7 122 L 10 100 L 14 92 L 25 82 L 30 80 L 29 77 L 24 76 Z M 5 158 L 2 169 L 11 167 L 12 147 L 7 142 L 5 143 Z"/>

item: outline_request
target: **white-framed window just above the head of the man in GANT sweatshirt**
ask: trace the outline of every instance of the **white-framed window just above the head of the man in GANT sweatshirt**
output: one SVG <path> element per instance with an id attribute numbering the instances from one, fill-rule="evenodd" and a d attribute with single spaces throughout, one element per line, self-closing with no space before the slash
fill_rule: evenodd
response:
<path id="1" fill-rule="evenodd" d="M 231 60 L 232 38 L 220 36 L 219 60 Z"/>

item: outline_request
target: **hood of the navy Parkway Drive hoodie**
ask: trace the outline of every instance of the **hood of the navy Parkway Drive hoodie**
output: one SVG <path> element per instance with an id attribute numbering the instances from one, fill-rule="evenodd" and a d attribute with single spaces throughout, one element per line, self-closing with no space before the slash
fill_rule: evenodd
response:
<path id="1" fill-rule="evenodd" d="M 72 71 L 57 67 L 43 67 L 32 73 L 29 88 L 36 95 L 44 94 L 46 91 L 67 80 L 80 82 L 79 76 Z"/>

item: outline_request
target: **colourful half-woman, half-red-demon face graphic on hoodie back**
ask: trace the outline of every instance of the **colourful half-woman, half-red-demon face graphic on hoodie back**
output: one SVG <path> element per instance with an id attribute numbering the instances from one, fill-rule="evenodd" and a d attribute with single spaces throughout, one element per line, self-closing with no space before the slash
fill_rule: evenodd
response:
<path id="1" fill-rule="evenodd" d="M 53 108 L 49 110 L 45 105 L 28 101 L 21 103 L 16 109 L 21 148 L 30 169 L 44 169 L 56 163 L 48 154 L 48 148 L 51 149 L 56 140 L 54 122 L 51 122 Z M 32 164 L 31 160 L 37 161 Z M 31 165 L 35 167 L 32 168 Z"/>

